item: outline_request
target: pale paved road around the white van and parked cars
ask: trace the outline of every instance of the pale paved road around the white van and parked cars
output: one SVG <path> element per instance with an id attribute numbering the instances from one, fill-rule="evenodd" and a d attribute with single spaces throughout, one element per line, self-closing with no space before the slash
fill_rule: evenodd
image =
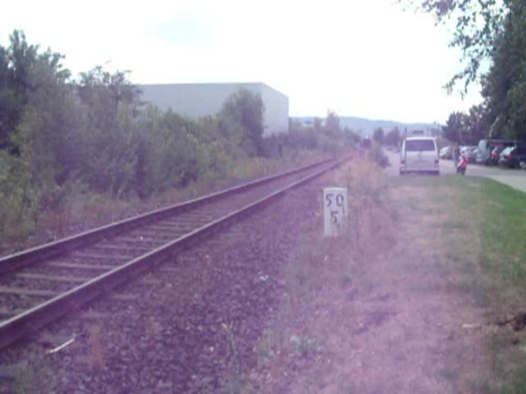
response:
<path id="1" fill-rule="evenodd" d="M 388 172 L 393 175 L 398 175 L 400 160 L 399 154 L 389 151 L 386 151 L 386 154 L 389 158 L 389 163 L 391 164 L 388 167 Z M 454 173 L 456 173 L 456 170 L 454 169 L 453 161 L 440 160 L 441 175 L 448 175 Z M 495 167 L 486 167 L 485 165 L 468 164 L 466 175 L 491 178 L 495 181 L 507 184 L 514 189 L 526 192 L 526 171 L 524 170 L 511 170 Z"/>

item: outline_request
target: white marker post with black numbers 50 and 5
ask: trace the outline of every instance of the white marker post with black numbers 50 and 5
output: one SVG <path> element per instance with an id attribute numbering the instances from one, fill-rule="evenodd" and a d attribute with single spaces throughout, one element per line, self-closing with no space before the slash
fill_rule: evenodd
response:
<path id="1" fill-rule="evenodd" d="M 347 189 L 323 189 L 323 236 L 337 236 L 347 219 Z"/>

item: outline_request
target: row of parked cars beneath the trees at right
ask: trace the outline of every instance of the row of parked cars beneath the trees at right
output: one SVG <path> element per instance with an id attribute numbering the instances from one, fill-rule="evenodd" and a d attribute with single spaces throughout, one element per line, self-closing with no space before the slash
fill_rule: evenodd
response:
<path id="1" fill-rule="evenodd" d="M 526 143 L 512 140 L 480 140 L 478 146 L 460 146 L 459 151 L 468 163 L 526 169 Z M 452 159 L 453 147 L 440 149 L 439 157 Z"/>

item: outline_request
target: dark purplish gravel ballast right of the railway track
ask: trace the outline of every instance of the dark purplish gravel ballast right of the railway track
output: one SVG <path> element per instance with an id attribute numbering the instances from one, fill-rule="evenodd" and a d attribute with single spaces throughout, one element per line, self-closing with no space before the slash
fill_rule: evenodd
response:
<path id="1" fill-rule="evenodd" d="M 4 350 L 0 390 L 227 390 L 257 363 L 255 345 L 284 292 L 281 267 L 302 223 L 321 210 L 322 188 L 318 179 L 287 193 L 117 295 Z"/>

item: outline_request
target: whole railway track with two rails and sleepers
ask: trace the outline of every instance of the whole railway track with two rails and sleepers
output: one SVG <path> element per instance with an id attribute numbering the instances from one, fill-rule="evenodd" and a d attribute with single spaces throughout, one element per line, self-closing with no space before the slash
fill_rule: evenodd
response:
<path id="1" fill-rule="evenodd" d="M 340 163 L 325 160 L 0 258 L 0 348 Z"/>

